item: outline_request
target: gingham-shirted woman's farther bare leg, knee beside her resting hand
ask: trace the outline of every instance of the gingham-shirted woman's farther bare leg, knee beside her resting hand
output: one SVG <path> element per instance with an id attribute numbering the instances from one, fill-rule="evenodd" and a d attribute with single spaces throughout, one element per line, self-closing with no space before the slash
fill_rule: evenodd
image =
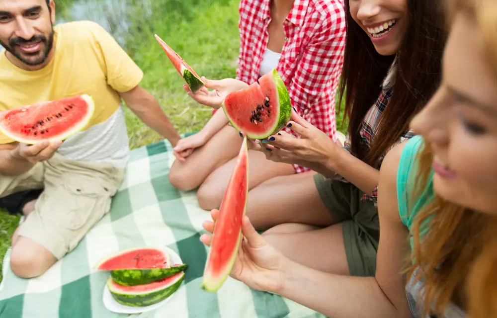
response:
<path id="1" fill-rule="evenodd" d="M 195 149 L 185 162 L 175 160 L 169 170 L 169 181 L 179 190 L 195 189 L 217 167 L 237 156 L 242 141 L 240 134 L 226 125 L 204 146 Z"/>

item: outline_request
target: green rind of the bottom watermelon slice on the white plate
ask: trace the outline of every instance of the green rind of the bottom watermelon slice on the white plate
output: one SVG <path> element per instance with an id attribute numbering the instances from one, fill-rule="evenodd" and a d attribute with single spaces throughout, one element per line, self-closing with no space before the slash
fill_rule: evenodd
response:
<path id="1" fill-rule="evenodd" d="M 155 291 L 143 292 L 141 294 L 126 294 L 118 292 L 113 288 L 112 277 L 109 277 L 107 280 L 107 288 L 109 289 L 112 298 L 121 305 L 129 307 L 146 307 L 160 303 L 174 294 L 181 286 L 184 277 L 185 274 L 183 273 L 173 284 Z"/>

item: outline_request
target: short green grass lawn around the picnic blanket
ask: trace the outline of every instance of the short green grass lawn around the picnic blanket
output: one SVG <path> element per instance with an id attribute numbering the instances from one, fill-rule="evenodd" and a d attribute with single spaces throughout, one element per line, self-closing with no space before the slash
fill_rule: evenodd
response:
<path id="1" fill-rule="evenodd" d="M 71 2 L 61 0 L 64 12 L 71 11 Z M 165 40 L 198 74 L 208 79 L 234 78 L 239 47 L 239 0 L 156 0 L 151 2 L 152 7 L 136 2 L 136 7 L 125 17 L 130 21 L 125 47 L 145 73 L 142 85 L 158 98 L 180 133 L 198 131 L 211 116 L 212 109 L 197 104 L 184 93 L 183 80 L 154 34 Z M 136 18 L 143 14 L 148 15 L 146 21 Z M 341 118 L 339 114 L 337 125 L 343 132 Z M 128 109 L 126 124 L 132 149 L 160 140 L 157 133 Z M 18 217 L 0 211 L 1 258 L 10 246 L 17 223 Z M 0 260 L 0 280 L 1 265 Z"/>

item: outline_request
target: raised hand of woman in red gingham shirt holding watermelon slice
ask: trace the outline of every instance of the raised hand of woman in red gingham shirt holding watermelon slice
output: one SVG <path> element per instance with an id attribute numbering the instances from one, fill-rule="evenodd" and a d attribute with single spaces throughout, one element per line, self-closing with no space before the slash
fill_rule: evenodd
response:
<path id="1" fill-rule="evenodd" d="M 246 82 L 238 79 L 211 80 L 205 77 L 201 79 L 205 83 L 205 86 L 196 91 L 195 94 L 190 91 L 188 85 L 183 85 L 183 88 L 188 92 L 188 96 L 198 103 L 216 109 L 221 107 L 229 93 L 248 87 Z M 213 90 L 209 90 L 208 88 Z"/>

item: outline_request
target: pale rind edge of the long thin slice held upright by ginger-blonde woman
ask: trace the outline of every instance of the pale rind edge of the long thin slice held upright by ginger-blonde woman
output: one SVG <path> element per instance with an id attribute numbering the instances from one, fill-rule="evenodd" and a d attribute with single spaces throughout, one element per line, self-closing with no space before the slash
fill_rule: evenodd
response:
<path id="1" fill-rule="evenodd" d="M 247 174 L 247 182 L 248 182 L 248 148 L 247 148 L 247 137 L 244 137 L 244 141 L 242 143 L 242 148 L 240 149 L 239 157 L 241 157 L 242 155 L 243 155 L 243 157 L 246 157 L 246 161 L 247 161 L 246 174 Z M 237 165 L 235 165 L 235 166 L 237 166 Z M 243 215 L 245 215 L 246 212 L 247 212 L 248 184 L 246 184 L 245 188 L 246 188 L 246 192 L 245 192 L 245 207 L 244 207 L 244 213 L 243 213 Z M 214 231 L 213 232 L 215 233 L 215 227 L 214 227 Z M 214 234 L 213 234 L 212 238 L 214 239 Z M 221 286 L 223 286 L 223 284 L 225 283 L 226 279 L 230 275 L 231 270 L 233 269 L 233 266 L 235 265 L 235 261 L 237 260 L 237 257 L 238 257 L 238 250 L 240 248 L 241 241 L 242 241 L 242 231 L 240 231 L 240 233 L 238 235 L 237 244 L 235 245 L 235 249 L 233 250 L 233 254 L 232 254 L 229 262 L 226 264 L 226 266 L 224 268 L 224 271 L 221 271 L 221 274 L 218 275 L 217 277 L 214 277 L 214 275 L 212 275 L 212 273 L 210 273 L 208 271 L 208 264 L 209 264 L 209 259 L 210 259 L 210 255 L 211 255 L 211 252 L 212 252 L 212 248 L 209 249 L 209 253 L 207 255 L 207 261 L 205 263 L 204 274 L 202 276 L 202 282 L 200 284 L 200 288 L 201 289 L 203 289 L 203 290 L 205 290 L 207 292 L 210 292 L 210 293 L 215 293 L 215 292 L 217 292 L 221 288 Z"/>

